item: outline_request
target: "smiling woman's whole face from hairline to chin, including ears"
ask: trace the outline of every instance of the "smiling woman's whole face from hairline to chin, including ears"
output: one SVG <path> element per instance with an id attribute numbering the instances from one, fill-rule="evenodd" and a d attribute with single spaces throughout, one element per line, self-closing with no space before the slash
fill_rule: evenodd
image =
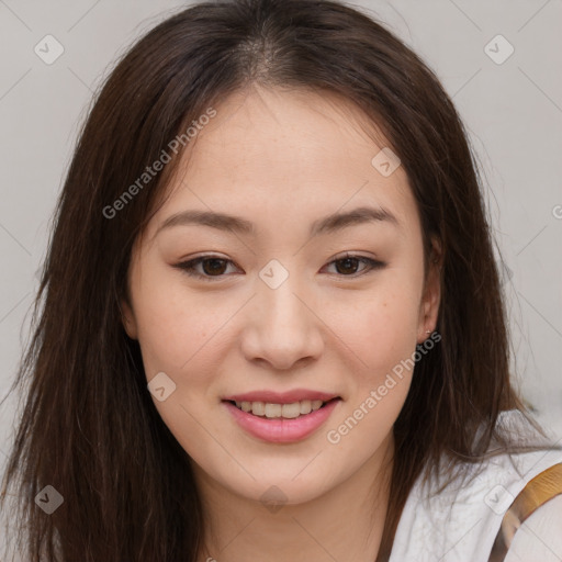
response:
<path id="1" fill-rule="evenodd" d="M 355 108 L 251 90 L 215 109 L 137 240 L 125 327 L 195 473 L 297 504 L 392 449 L 438 278 Z"/>

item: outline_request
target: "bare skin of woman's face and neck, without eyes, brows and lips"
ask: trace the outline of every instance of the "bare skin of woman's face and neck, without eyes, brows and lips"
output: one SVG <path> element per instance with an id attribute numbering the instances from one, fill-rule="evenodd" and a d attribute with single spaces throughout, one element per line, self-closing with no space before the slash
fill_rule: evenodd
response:
<path id="1" fill-rule="evenodd" d="M 412 372 L 339 442 L 327 432 L 436 326 L 437 266 L 424 277 L 406 173 L 400 166 L 383 177 L 371 165 L 386 146 L 382 135 L 376 144 L 359 111 L 334 95 L 251 88 L 216 110 L 135 245 L 123 303 L 147 381 L 165 372 L 176 384 L 154 402 L 192 459 L 207 522 L 200 560 L 372 562 L 389 499 L 392 426 Z M 310 236 L 314 221 L 362 205 L 384 207 L 397 225 Z M 158 231 L 186 210 L 241 216 L 255 232 Z M 335 262 L 346 251 L 385 266 Z M 195 267 L 211 281 L 175 267 L 202 254 L 232 261 Z M 259 277 L 271 259 L 289 272 L 277 289 Z M 265 389 L 312 389 L 341 401 L 310 437 L 271 443 L 245 432 L 222 403 Z M 276 510 L 261 499 L 273 485 L 284 501 Z"/>

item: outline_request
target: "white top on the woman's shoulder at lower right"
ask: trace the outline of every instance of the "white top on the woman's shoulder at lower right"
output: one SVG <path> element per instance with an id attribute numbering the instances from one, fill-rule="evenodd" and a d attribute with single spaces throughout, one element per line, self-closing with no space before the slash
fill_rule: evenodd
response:
<path id="1" fill-rule="evenodd" d="M 518 412 L 503 413 L 501 423 L 517 431 L 519 416 Z M 513 463 L 509 456 L 501 454 L 482 465 L 468 465 L 467 471 L 470 475 L 475 474 L 474 477 L 454 481 L 439 494 L 435 494 L 437 482 L 423 486 L 419 477 L 404 506 L 389 562 L 487 562 L 505 512 L 530 480 L 562 462 L 562 450 L 546 448 L 513 454 L 512 459 Z M 549 504 L 552 505 L 547 510 Z M 554 527 L 551 527 L 560 536 L 562 496 L 547 502 L 536 514 L 548 513 L 552 519 L 552 506 L 557 507 L 558 515 Z M 515 533 L 512 547 L 516 541 L 521 542 L 519 535 L 524 535 L 522 526 Z M 560 548 L 560 537 L 553 540 Z M 538 539 L 535 543 L 541 550 Z M 510 560 L 510 554 L 513 548 L 506 561 Z M 562 551 L 552 559 L 537 555 L 533 560 L 562 560 Z"/>

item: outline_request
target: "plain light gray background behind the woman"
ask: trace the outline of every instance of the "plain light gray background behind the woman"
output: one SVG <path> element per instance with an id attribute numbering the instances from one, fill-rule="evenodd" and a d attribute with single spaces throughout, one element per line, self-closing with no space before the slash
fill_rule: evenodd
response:
<path id="1" fill-rule="evenodd" d="M 136 37 L 188 4 L 0 0 L 0 400 L 25 346 L 35 273 L 92 93 Z M 453 98 L 481 161 L 505 260 L 516 382 L 562 438 L 562 1 L 353 5 L 412 46 Z M 52 65 L 34 52 L 47 34 L 65 49 Z M 515 48 L 502 64 L 488 56 L 507 53 L 503 40 L 492 41 L 498 34 Z M 0 408 L 0 470 L 15 407 L 13 396 Z"/>

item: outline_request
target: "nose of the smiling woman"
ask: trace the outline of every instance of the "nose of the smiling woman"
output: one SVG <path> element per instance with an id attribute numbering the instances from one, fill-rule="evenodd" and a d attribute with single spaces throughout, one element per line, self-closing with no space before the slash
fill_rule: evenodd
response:
<path id="1" fill-rule="evenodd" d="M 243 352 L 248 361 L 267 363 L 270 369 L 289 370 L 296 363 L 317 359 L 324 348 L 323 322 L 315 300 L 289 278 L 277 289 L 261 280 L 246 311 Z"/>

